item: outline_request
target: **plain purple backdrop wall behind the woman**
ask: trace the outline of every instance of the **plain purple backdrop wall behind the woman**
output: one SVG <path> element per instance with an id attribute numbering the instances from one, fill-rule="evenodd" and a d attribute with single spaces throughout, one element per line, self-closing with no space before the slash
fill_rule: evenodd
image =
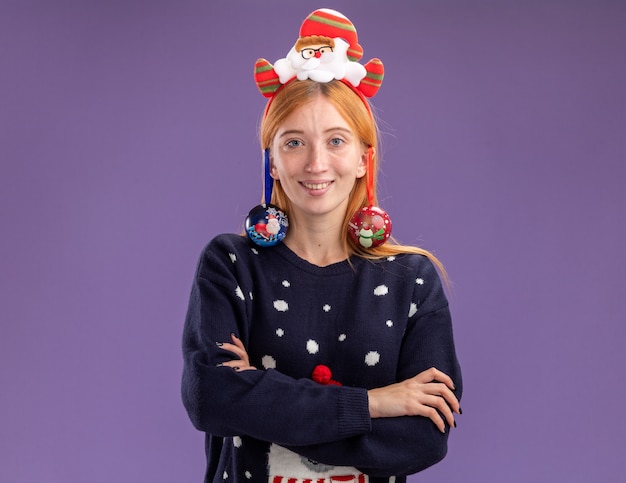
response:
<path id="1" fill-rule="evenodd" d="M 1 481 L 201 481 L 191 278 L 261 195 L 254 61 L 321 6 L 385 63 L 381 205 L 454 283 L 465 414 L 411 480 L 621 480 L 623 1 L 2 0 Z"/>

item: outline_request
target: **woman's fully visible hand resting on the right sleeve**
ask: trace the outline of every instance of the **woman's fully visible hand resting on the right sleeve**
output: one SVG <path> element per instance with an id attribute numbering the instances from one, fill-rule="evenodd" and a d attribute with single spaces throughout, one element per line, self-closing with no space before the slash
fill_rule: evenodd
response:
<path id="1" fill-rule="evenodd" d="M 446 426 L 441 415 L 448 425 L 455 426 L 453 413 L 461 414 L 453 390 L 452 379 L 431 367 L 410 379 L 367 391 L 370 416 L 424 416 L 445 433 Z"/>

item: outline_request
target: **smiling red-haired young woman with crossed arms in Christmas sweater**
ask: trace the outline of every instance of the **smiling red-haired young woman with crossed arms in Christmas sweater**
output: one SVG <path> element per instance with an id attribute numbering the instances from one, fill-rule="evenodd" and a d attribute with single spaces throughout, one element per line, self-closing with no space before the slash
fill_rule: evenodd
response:
<path id="1" fill-rule="evenodd" d="M 358 51 L 337 20 L 349 24 L 313 12 L 292 50 Z M 351 81 L 292 68 L 261 126 L 288 232 L 273 246 L 217 236 L 192 287 L 182 393 L 206 433 L 205 481 L 405 481 L 445 456 L 461 412 L 441 265 L 379 243 L 388 233 L 354 236 L 353 215 L 376 203 L 369 104 Z"/>

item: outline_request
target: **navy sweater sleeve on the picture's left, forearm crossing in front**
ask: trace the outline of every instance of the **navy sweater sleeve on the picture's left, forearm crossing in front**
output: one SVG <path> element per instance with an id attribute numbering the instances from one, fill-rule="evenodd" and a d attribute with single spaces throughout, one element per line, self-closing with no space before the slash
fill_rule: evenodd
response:
<path id="1" fill-rule="evenodd" d="M 230 252 L 209 245 L 191 290 L 183 331 L 182 398 L 194 426 L 216 436 L 250 436 L 280 445 L 323 444 L 371 429 L 367 392 L 321 386 L 280 372 L 219 366 L 217 342 L 248 333 L 248 312 Z M 234 252 L 233 252 L 234 253 Z M 332 421 L 332 424 L 328 424 Z"/>

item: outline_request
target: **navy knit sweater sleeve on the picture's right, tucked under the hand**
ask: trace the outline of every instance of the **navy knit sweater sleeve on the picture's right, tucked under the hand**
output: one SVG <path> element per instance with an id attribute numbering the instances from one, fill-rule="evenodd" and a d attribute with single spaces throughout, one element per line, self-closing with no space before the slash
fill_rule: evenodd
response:
<path id="1" fill-rule="evenodd" d="M 461 398 L 462 379 L 457 361 L 452 323 L 439 277 L 428 264 L 424 278 L 434 281 L 430 292 L 421 298 L 410 317 L 401 348 L 397 381 L 430 368 L 448 374 L 454 381 L 455 395 Z M 416 291 L 422 290 L 417 287 Z M 416 293 L 416 300 L 423 294 Z M 325 445 L 292 447 L 315 461 L 357 467 L 376 477 L 408 475 L 439 462 L 447 453 L 450 428 L 442 434 L 434 423 L 422 416 L 377 418 L 372 431 Z"/>

